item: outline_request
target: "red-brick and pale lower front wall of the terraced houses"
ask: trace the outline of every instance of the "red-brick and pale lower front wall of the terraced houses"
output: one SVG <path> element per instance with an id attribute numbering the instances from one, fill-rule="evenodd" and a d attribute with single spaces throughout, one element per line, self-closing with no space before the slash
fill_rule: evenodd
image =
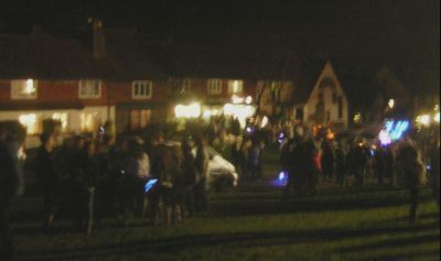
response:
<path id="1" fill-rule="evenodd" d="M 228 93 L 228 79 L 222 79 L 222 93 L 219 95 L 208 95 L 208 78 L 192 78 L 190 95 L 195 96 L 202 105 L 209 98 L 232 102 L 232 94 Z M 33 115 L 36 123 L 34 131 L 29 137 L 32 145 L 37 142 L 37 133 L 42 131 L 42 121 L 51 119 L 54 115 L 66 115 L 67 123 L 65 132 L 78 133 L 85 129 L 97 128 L 106 120 L 111 120 L 117 126 L 118 131 L 123 131 L 130 126 L 130 113 L 132 110 L 150 110 L 153 119 L 170 120 L 171 111 L 174 112 L 174 98 L 172 86 L 168 79 L 152 80 L 152 96 L 146 99 L 133 99 L 132 81 L 101 81 L 101 95 L 97 99 L 83 99 L 78 97 L 78 80 L 52 80 L 39 79 L 36 87 L 36 98 L 34 99 L 12 99 L 11 80 L 0 80 L 0 120 L 19 120 L 22 116 Z M 256 99 L 255 80 L 244 80 L 243 98 L 251 96 Z M 174 102 L 176 101 L 176 102 Z M 88 117 L 88 118 L 87 118 Z M 85 121 L 93 119 L 90 128 L 85 128 Z M 89 120 L 90 121 L 90 120 Z M 118 126 L 119 124 L 119 126 Z"/>

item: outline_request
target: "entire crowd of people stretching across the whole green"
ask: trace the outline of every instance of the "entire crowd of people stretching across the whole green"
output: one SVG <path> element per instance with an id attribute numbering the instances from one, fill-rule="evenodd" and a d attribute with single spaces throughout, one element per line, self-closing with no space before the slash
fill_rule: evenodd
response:
<path id="1" fill-rule="evenodd" d="M 438 206 L 439 141 L 423 153 L 410 139 L 390 145 L 368 144 L 366 140 L 336 141 L 333 137 L 313 135 L 295 122 L 262 123 L 247 121 L 240 129 L 237 119 L 214 118 L 195 140 L 165 142 L 161 131 L 147 139 L 129 134 L 116 140 L 76 135 L 56 144 L 53 133 L 41 135 L 33 171 L 43 197 L 43 229 L 50 232 L 58 215 L 68 213 L 75 229 L 90 231 L 105 217 L 117 217 L 129 225 L 135 216 L 152 225 L 179 224 L 196 213 L 208 210 L 207 145 L 227 152 L 241 181 L 262 176 L 262 154 L 267 145 L 280 149 L 280 163 L 288 176 L 284 193 L 314 195 L 319 178 L 335 181 L 338 186 L 362 186 L 366 176 L 378 184 L 387 181 L 409 191 L 409 220 L 417 217 L 419 194 L 430 168 Z M 227 142 L 226 137 L 233 137 Z M 13 250 L 8 224 L 12 198 L 23 194 L 21 165 L 25 154 L 23 140 L 13 133 L 0 142 L 0 242 Z M 227 145 L 226 145 L 227 144 Z M 217 146 L 217 148 L 216 148 Z"/>

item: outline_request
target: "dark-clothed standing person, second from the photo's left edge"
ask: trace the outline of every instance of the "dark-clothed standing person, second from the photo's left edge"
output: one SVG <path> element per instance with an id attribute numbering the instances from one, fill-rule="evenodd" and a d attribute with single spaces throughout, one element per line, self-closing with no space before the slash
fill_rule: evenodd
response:
<path id="1" fill-rule="evenodd" d="M 36 153 L 36 176 L 43 195 L 43 229 L 51 229 L 54 221 L 56 198 L 58 197 L 58 175 L 54 162 L 54 137 L 51 133 L 41 135 L 41 146 Z"/>

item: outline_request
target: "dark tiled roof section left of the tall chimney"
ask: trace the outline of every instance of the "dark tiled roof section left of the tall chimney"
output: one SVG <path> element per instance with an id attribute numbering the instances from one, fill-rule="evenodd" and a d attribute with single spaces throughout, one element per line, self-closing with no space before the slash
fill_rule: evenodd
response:
<path id="1" fill-rule="evenodd" d="M 46 34 L 0 35 L 0 78 L 99 77 L 85 46 Z"/>

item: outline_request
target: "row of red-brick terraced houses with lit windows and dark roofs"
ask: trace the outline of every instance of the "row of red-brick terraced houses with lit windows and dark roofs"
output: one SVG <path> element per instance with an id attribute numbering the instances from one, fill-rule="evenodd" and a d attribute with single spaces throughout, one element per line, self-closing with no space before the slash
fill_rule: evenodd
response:
<path id="1" fill-rule="evenodd" d="M 42 131 L 44 119 L 60 120 L 71 133 L 109 120 L 122 132 L 173 121 L 185 108 L 178 105 L 196 102 L 201 117 L 229 105 L 239 115 L 258 109 L 347 128 L 347 98 L 330 61 L 300 69 L 289 61 L 243 66 L 240 57 L 225 65 L 211 52 L 99 23 L 89 39 L 55 37 L 39 28 L 30 35 L 0 35 L 0 120 L 19 120 L 30 135 Z"/>

